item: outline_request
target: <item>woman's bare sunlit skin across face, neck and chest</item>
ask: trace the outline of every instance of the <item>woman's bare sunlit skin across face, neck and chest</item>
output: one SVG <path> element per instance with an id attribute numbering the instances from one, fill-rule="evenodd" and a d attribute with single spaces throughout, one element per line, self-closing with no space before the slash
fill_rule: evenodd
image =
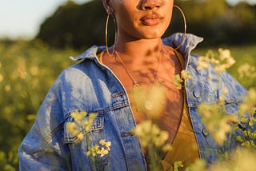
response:
<path id="1" fill-rule="evenodd" d="M 148 87 L 154 82 L 158 67 L 158 79 L 166 89 L 166 101 L 162 117 L 158 120 L 161 129 L 170 133 L 169 142 L 174 140 L 181 121 L 183 90 L 173 85 L 174 75 L 182 68 L 174 50 L 162 44 L 161 38 L 170 24 L 173 0 L 103 0 L 106 12 L 116 18 L 118 34 L 110 52 L 116 51 L 139 85 Z M 131 93 L 133 82 L 121 62 L 114 55 L 103 54 L 103 63 L 114 72 L 128 92 L 134 118 L 137 123 L 147 119 L 138 113 Z"/>

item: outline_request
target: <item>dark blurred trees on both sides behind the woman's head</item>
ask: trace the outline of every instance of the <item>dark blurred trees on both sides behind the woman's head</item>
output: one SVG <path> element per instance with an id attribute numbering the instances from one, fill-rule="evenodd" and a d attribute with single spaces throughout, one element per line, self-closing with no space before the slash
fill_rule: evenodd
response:
<path id="1" fill-rule="evenodd" d="M 201 46 L 241 45 L 256 40 L 256 6 L 246 2 L 230 6 L 225 0 L 177 1 L 175 4 L 186 15 L 187 32 L 205 38 Z M 102 0 L 82 5 L 68 1 L 46 18 L 36 38 L 59 48 L 86 49 L 95 44 L 104 45 L 105 22 Z M 174 17 L 165 36 L 182 32 L 182 28 L 182 15 L 174 9 Z M 109 30 L 109 39 L 114 40 L 113 23 Z"/>

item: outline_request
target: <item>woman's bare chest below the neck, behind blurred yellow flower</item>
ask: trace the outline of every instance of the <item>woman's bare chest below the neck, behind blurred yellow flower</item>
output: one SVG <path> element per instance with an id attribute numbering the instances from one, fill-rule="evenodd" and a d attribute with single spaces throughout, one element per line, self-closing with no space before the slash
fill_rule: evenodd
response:
<path id="1" fill-rule="evenodd" d="M 154 64 L 130 67 L 130 74 L 140 85 L 137 92 L 134 90 L 133 80 L 122 65 L 110 61 L 106 65 L 126 88 L 136 123 L 157 115 L 155 121 L 161 129 L 169 132 L 169 141 L 173 141 L 181 121 L 184 101 L 183 91 L 173 84 L 174 75 L 180 74 L 182 70 L 178 59 L 164 58 L 158 69 Z M 153 86 L 156 83 L 161 85 L 159 89 Z"/>

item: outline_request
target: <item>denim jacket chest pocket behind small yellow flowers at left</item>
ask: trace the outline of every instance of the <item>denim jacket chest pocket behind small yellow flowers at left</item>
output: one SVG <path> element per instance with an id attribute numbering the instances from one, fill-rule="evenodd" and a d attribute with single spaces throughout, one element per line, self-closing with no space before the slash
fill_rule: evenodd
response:
<path id="1" fill-rule="evenodd" d="M 64 123 L 64 143 L 74 146 L 82 145 L 87 151 L 87 146 L 95 145 L 103 138 L 104 127 L 103 115 L 94 117 L 90 123 L 90 113 L 86 117 L 75 121 L 73 117 L 67 117 Z"/>

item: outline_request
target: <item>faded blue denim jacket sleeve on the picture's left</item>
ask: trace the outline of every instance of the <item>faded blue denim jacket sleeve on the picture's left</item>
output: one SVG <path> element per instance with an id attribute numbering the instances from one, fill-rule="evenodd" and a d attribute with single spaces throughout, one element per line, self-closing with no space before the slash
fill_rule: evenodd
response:
<path id="1" fill-rule="evenodd" d="M 61 81 L 46 95 L 36 121 L 18 149 L 19 169 L 70 170 L 70 151 L 63 143 Z"/>

